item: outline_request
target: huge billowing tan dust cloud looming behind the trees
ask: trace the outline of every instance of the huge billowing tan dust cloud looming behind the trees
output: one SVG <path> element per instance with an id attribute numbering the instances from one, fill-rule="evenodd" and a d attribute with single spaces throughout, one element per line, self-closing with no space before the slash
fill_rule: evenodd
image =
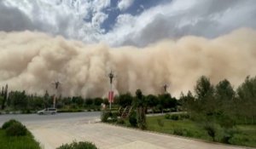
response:
<path id="1" fill-rule="evenodd" d="M 227 78 L 237 87 L 256 74 L 256 31 L 240 29 L 215 39 L 166 39 L 145 48 L 110 48 L 104 43 L 84 44 L 39 32 L 0 32 L 0 85 L 31 94 L 105 96 L 108 73 L 116 74 L 116 93 L 142 89 L 160 94 L 163 84 L 179 95 L 193 90 L 205 75 L 212 83 Z"/>

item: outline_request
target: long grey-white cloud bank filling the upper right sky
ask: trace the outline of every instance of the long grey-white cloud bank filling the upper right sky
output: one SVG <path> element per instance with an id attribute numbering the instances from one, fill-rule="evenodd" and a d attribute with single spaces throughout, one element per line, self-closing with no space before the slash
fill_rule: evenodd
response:
<path id="1" fill-rule="evenodd" d="M 254 0 L 173 0 L 137 16 L 119 15 L 104 39 L 114 46 L 145 46 L 164 38 L 211 38 L 240 27 L 256 28 L 255 4 Z"/>

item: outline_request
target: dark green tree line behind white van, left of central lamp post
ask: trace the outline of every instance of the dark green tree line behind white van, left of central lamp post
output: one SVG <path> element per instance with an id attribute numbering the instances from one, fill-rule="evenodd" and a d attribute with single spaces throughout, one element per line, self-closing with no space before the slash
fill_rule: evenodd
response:
<path id="1" fill-rule="evenodd" d="M 46 91 L 44 95 L 28 95 L 26 91 L 10 91 L 8 86 L 2 89 L 0 95 L 0 107 L 2 110 L 21 112 L 37 111 L 39 109 L 53 107 L 53 95 Z M 56 98 L 55 107 L 60 109 L 101 109 L 102 103 L 108 105 L 107 99 L 87 98 L 81 96 Z"/>

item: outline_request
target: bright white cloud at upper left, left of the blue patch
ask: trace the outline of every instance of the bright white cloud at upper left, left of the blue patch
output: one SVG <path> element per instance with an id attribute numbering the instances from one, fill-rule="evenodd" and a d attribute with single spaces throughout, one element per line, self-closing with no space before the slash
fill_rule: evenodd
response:
<path id="1" fill-rule="evenodd" d="M 109 6 L 110 0 L 4 1 L 4 7 L 17 9 L 26 14 L 25 16 L 28 20 L 32 20 L 35 26 L 33 30 L 60 34 L 67 38 L 84 40 L 87 43 L 96 42 L 104 32 L 101 24 L 108 18 L 108 14 L 104 14 L 102 10 Z M 90 21 L 85 22 L 84 18 L 89 18 Z M 15 24 L 14 22 L 12 24 Z M 30 30 L 31 27 L 25 27 L 24 30 L 26 29 Z M 16 31 L 15 28 L 12 30 Z"/>

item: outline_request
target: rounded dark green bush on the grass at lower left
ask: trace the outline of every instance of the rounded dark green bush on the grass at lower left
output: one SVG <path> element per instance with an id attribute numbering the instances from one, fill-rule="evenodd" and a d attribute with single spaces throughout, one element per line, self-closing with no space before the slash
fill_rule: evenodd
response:
<path id="1" fill-rule="evenodd" d="M 27 134 L 26 127 L 21 123 L 13 123 L 5 131 L 8 136 L 21 136 Z"/>

